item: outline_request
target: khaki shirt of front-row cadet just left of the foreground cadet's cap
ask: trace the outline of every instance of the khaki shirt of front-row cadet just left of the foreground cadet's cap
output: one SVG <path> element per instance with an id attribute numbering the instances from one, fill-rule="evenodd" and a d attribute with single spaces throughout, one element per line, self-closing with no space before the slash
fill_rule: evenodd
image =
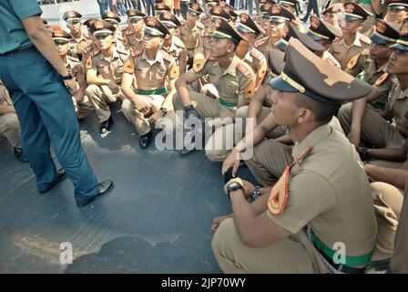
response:
<path id="1" fill-rule="evenodd" d="M 222 71 L 217 59 L 209 59 L 200 70 L 193 69 L 197 78 L 209 75 L 209 83 L 219 91 L 219 98 L 240 105 L 249 104 L 255 93 L 255 74 L 240 57 L 234 56 L 230 67 Z"/>

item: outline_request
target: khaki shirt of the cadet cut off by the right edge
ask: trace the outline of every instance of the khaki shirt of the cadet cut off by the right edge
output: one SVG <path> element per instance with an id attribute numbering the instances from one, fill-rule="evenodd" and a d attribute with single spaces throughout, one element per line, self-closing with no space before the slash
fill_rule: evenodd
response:
<path id="1" fill-rule="evenodd" d="M 403 137 L 408 138 L 408 89 L 402 91 L 396 78 L 393 78 L 387 110 L 393 112 L 395 126 Z"/>

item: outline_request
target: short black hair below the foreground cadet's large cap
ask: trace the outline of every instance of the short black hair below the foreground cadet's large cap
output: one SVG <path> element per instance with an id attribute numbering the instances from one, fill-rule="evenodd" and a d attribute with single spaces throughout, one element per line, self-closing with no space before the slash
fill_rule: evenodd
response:
<path id="1" fill-rule="evenodd" d="M 295 99 L 296 106 L 299 108 L 306 108 L 311 110 L 314 114 L 314 118 L 317 122 L 326 124 L 331 121 L 333 116 L 337 115 L 342 104 L 328 104 L 322 103 L 315 99 L 311 99 L 304 94 L 297 94 Z"/>

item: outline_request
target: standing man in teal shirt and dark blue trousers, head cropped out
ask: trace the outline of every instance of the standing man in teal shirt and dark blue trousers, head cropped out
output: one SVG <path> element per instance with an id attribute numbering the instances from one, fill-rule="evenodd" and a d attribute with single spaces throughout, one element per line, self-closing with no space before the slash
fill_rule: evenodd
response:
<path id="1" fill-rule="evenodd" d="M 76 82 L 58 56 L 41 14 L 36 0 L 0 1 L 0 79 L 20 120 L 23 150 L 38 191 L 46 193 L 68 176 L 76 204 L 84 206 L 110 191 L 113 182 L 97 183 L 87 162 L 71 99 Z M 56 171 L 51 143 L 65 171 Z"/>

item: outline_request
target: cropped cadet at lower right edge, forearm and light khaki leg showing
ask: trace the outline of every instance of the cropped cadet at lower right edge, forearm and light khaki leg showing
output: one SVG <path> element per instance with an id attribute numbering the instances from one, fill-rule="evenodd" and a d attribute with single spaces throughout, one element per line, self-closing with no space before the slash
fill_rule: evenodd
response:
<path id="1" fill-rule="evenodd" d="M 405 144 L 406 151 L 408 143 Z M 408 273 L 408 234 L 405 232 L 408 222 L 408 161 L 398 169 L 372 163 L 365 164 L 364 169 L 375 181 L 371 186 L 378 224 L 377 245 L 369 266 L 377 272 L 389 270 L 392 258 L 392 273 Z"/>

